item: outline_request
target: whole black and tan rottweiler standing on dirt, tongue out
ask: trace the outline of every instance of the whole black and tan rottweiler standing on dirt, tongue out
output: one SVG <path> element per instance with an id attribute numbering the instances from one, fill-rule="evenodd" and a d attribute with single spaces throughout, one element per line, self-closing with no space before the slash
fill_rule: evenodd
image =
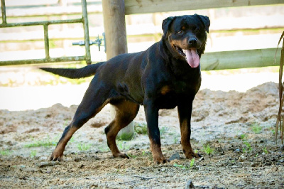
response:
<path id="1" fill-rule="evenodd" d="M 182 149 L 186 158 L 200 157 L 190 144 L 192 102 L 200 89 L 200 57 L 204 53 L 210 21 L 207 16 L 185 15 L 163 21 L 163 37 L 139 53 L 117 55 L 107 62 L 84 68 L 40 68 L 69 78 L 94 75 L 72 122 L 65 128 L 50 161 L 62 161 L 72 134 L 106 104 L 116 115 L 106 127 L 107 144 L 114 157 L 129 158 L 116 146 L 116 134 L 127 126 L 144 106 L 155 163 L 165 163 L 158 128 L 159 109 L 178 107 Z"/>

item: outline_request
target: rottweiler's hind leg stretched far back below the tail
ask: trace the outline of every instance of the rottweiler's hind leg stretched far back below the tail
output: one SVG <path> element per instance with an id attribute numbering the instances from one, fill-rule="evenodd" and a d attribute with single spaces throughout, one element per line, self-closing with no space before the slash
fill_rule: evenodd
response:
<path id="1" fill-rule="evenodd" d="M 58 144 L 50 156 L 50 161 L 62 161 L 63 151 L 72 135 L 89 119 L 94 117 L 108 103 L 109 90 L 92 80 L 82 102 L 76 110 L 72 122 L 65 128 Z"/>

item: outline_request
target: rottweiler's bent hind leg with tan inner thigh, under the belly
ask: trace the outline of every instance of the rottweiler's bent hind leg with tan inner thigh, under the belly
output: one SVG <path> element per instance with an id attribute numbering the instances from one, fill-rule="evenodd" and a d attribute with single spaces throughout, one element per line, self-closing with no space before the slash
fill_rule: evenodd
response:
<path id="1" fill-rule="evenodd" d="M 114 105 L 116 115 L 114 120 L 111 121 L 109 126 L 104 130 L 107 135 L 107 145 L 111 149 L 111 153 L 114 157 L 129 158 L 129 156 L 125 153 L 121 153 L 119 148 L 117 148 L 116 135 L 136 117 L 139 110 L 139 104 L 130 102 L 126 99 L 111 100 L 110 103 Z"/>

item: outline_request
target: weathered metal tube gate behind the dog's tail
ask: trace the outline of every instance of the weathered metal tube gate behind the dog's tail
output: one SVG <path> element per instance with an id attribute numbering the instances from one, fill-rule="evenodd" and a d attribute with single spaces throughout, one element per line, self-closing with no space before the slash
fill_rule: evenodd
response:
<path id="1" fill-rule="evenodd" d="M 43 59 L 29 59 L 29 60 L 7 60 L 0 61 L 0 65 L 23 65 L 23 64 L 34 64 L 34 63 L 58 63 L 58 62 L 69 62 L 69 61 L 81 61 L 85 60 L 87 64 L 90 64 L 91 54 L 89 50 L 89 23 L 87 17 L 87 3 L 86 0 L 82 0 L 82 18 L 57 20 L 57 21 L 38 21 L 38 22 L 23 22 L 23 23 L 7 23 L 6 21 L 6 6 L 5 0 L 1 0 L 1 12 L 2 12 L 2 23 L 0 28 L 18 27 L 18 26 L 43 26 L 44 42 L 45 42 L 45 58 Z M 70 56 L 60 58 L 50 58 L 49 54 L 49 38 L 48 38 L 48 25 L 60 24 L 60 23 L 82 23 L 84 26 L 84 46 L 86 53 L 84 56 Z"/>

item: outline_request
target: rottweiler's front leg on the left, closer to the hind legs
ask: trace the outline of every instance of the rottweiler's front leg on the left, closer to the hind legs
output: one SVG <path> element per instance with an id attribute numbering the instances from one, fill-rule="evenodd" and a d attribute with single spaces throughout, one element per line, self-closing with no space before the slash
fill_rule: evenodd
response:
<path id="1" fill-rule="evenodd" d="M 148 126 L 148 136 L 150 139 L 150 146 L 155 163 L 165 163 L 167 159 L 163 156 L 160 148 L 160 130 L 158 127 L 158 111 L 153 102 L 144 103 L 146 114 L 146 121 Z"/>

